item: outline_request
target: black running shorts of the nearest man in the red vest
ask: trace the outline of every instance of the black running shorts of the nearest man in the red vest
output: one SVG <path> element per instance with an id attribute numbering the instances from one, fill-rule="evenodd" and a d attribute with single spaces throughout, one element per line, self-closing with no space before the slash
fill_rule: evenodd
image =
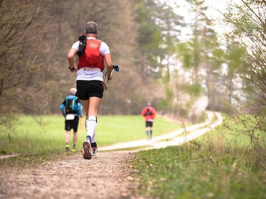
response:
<path id="1" fill-rule="evenodd" d="M 81 100 L 89 99 L 90 97 L 103 98 L 103 85 L 99 80 L 77 80 L 76 97 Z"/>

